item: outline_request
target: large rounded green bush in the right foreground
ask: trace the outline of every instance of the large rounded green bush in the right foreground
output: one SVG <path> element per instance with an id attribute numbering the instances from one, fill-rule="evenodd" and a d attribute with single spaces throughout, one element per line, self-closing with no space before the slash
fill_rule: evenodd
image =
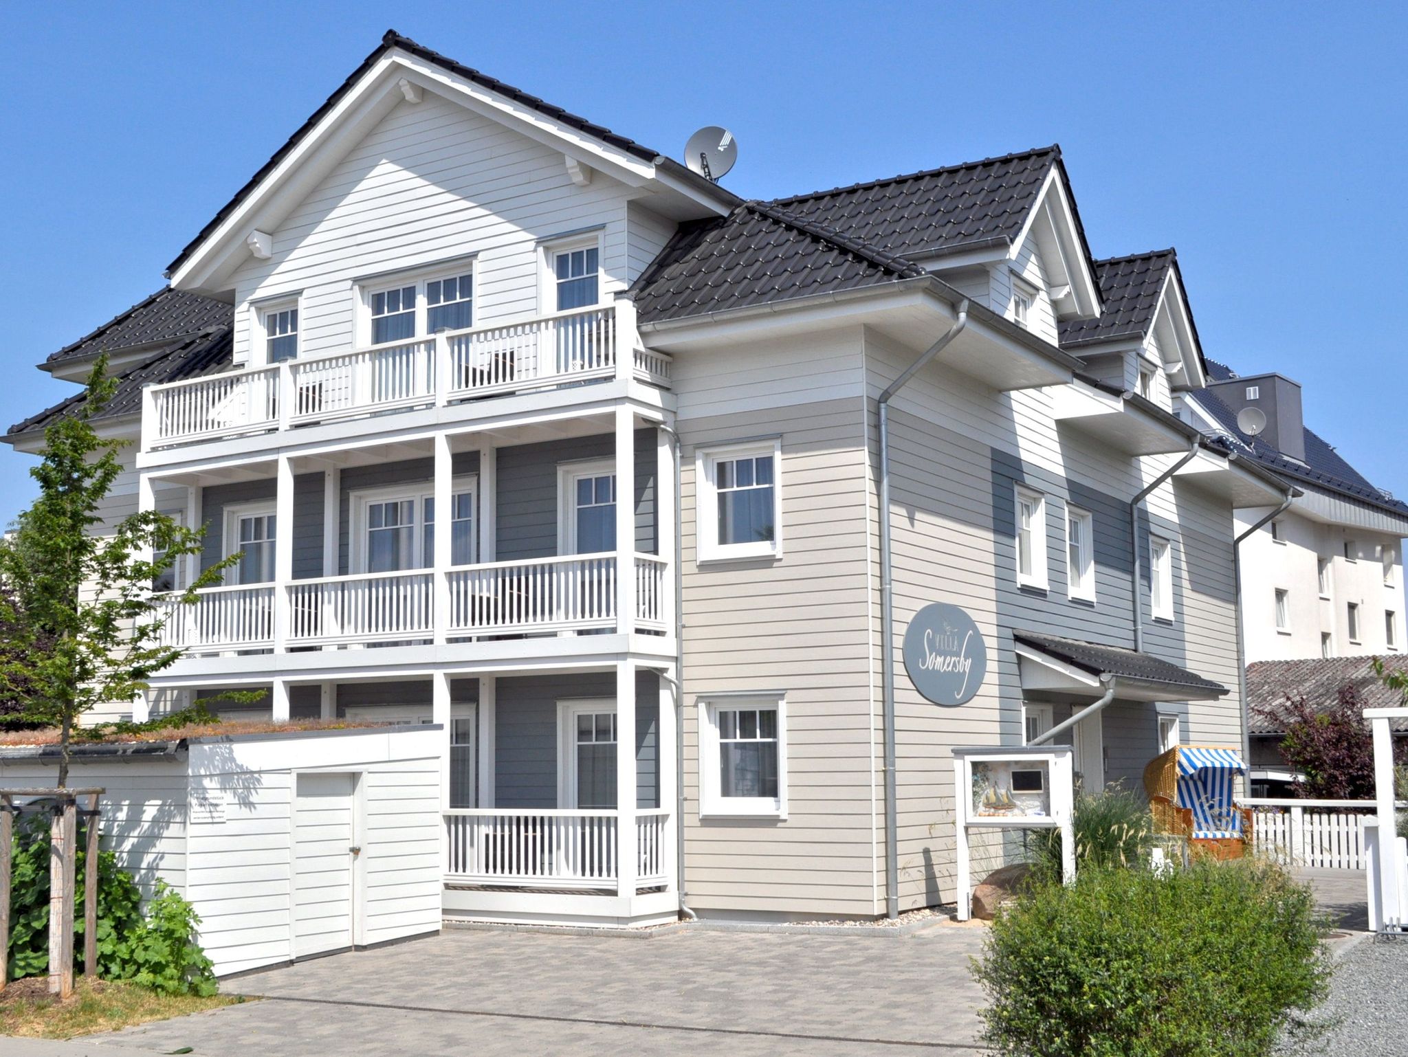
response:
<path id="1" fill-rule="evenodd" d="M 1087 868 L 993 922 L 977 981 L 1008 1057 L 1262 1057 L 1324 999 L 1307 888 L 1269 863 Z"/>

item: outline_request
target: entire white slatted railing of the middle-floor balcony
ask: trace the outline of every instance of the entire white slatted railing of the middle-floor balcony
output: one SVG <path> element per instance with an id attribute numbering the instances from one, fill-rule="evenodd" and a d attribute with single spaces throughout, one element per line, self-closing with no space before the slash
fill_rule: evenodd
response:
<path id="1" fill-rule="evenodd" d="M 365 643 L 448 642 L 483 636 L 615 631 L 615 553 L 489 562 L 396 573 L 359 573 L 287 584 L 208 587 L 194 602 L 165 595 L 161 645 L 193 656 L 275 649 L 337 649 Z M 631 629 L 666 626 L 666 570 L 655 555 L 634 556 Z M 445 593 L 436 621 L 436 587 Z M 280 619 L 279 608 L 287 612 Z M 280 626 L 287 628 L 282 646 Z"/>

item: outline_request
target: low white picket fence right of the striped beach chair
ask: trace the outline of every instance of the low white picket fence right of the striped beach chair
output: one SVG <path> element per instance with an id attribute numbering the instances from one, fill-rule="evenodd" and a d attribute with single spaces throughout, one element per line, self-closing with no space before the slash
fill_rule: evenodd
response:
<path id="1" fill-rule="evenodd" d="M 1242 801 L 1252 808 L 1252 846 L 1287 866 L 1321 870 L 1364 870 L 1364 819 L 1373 801 L 1267 799 Z"/>

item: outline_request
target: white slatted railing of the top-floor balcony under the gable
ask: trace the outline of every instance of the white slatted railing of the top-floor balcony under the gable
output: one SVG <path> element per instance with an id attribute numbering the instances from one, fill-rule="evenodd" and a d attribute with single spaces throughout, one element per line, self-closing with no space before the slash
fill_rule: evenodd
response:
<path id="1" fill-rule="evenodd" d="M 629 305 L 555 312 L 144 391 L 142 450 L 634 377 L 670 386 L 639 348 Z"/>

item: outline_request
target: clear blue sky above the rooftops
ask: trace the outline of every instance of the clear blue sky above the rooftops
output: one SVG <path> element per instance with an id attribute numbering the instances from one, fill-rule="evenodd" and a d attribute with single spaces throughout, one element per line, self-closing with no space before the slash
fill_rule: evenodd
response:
<path id="1" fill-rule="evenodd" d="M 1367 4 L 44 4 L 0 65 L 4 425 L 387 28 L 774 197 L 1060 142 L 1091 248 L 1174 245 L 1205 352 L 1305 387 L 1408 495 L 1404 8 Z M 0 449 L 0 522 L 32 497 Z"/>

